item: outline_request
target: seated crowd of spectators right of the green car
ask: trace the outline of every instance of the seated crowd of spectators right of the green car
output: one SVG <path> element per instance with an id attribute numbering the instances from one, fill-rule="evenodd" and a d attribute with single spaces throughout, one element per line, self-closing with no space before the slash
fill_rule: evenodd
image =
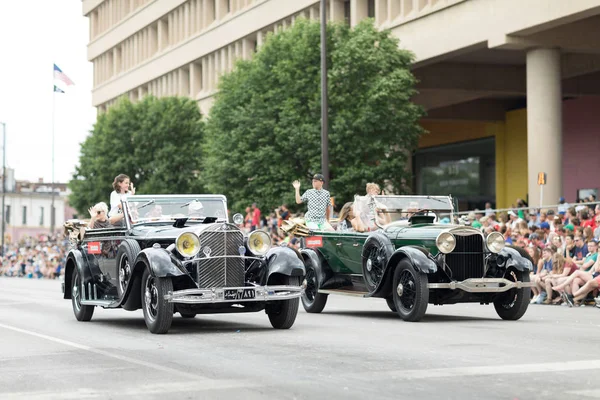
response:
<path id="1" fill-rule="evenodd" d="M 517 200 L 515 210 L 498 214 L 488 203 L 463 222 L 484 235 L 500 232 L 527 251 L 534 263 L 531 303 L 600 307 L 600 204 L 595 197 L 585 201 L 569 205 L 561 198 L 557 209 L 534 210 Z"/>

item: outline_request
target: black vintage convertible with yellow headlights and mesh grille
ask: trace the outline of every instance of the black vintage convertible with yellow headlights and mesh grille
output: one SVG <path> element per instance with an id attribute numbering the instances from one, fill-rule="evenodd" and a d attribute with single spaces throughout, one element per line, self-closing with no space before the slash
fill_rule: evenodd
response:
<path id="1" fill-rule="evenodd" d="M 305 274 L 299 254 L 229 223 L 224 196 L 130 196 L 122 210 L 120 228 L 66 224 L 73 248 L 63 292 L 77 320 L 89 321 L 100 306 L 142 308 L 152 333 L 167 332 L 176 312 L 265 310 L 274 328 L 294 324 Z"/>

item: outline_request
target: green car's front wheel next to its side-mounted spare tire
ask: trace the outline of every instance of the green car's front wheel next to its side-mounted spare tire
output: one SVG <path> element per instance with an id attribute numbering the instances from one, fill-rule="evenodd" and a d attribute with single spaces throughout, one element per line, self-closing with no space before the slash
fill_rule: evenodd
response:
<path id="1" fill-rule="evenodd" d="M 427 275 L 415 271 L 410 261 L 405 259 L 398 263 L 394 271 L 392 292 L 400 318 L 405 321 L 419 321 L 423 318 L 429 301 Z"/>

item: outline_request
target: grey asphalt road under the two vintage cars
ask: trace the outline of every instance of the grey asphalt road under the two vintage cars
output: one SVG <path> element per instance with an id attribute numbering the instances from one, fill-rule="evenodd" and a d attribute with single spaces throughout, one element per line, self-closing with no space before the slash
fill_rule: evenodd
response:
<path id="1" fill-rule="evenodd" d="M 330 296 L 287 331 L 264 313 L 176 316 L 167 335 L 141 310 L 77 322 L 59 281 L 0 278 L 0 399 L 600 398 L 600 310 L 430 306 L 401 321 L 382 300 Z"/>

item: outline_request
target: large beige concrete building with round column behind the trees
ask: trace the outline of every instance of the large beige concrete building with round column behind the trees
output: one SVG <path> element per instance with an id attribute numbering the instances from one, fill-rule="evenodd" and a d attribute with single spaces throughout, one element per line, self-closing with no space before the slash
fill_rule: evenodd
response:
<path id="1" fill-rule="evenodd" d="M 316 0 L 83 0 L 92 101 L 194 98 L 268 32 L 318 19 Z M 463 208 L 575 201 L 600 188 L 600 0 L 329 0 L 330 21 L 374 18 L 415 53 L 425 107 L 414 188 Z M 538 174 L 547 176 L 541 196 Z"/>

